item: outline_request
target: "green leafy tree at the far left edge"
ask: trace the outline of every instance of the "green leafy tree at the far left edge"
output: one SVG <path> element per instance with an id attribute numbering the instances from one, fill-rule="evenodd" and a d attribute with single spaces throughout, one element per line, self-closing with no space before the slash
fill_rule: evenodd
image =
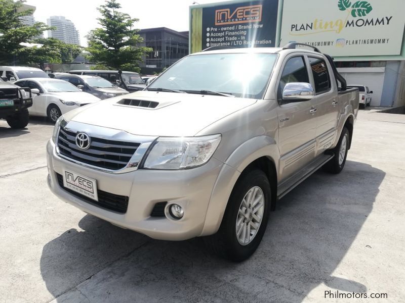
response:
<path id="1" fill-rule="evenodd" d="M 23 24 L 21 17 L 32 14 L 32 10 L 22 10 L 24 2 L 0 0 L 0 64 L 18 61 L 19 55 L 25 55 L 26 48 L 29 48 L 22 45 L 22 42 L 31 42 L 34 37 L 52 29 L 42 22 L 36 22 L 32 26 Z"/>

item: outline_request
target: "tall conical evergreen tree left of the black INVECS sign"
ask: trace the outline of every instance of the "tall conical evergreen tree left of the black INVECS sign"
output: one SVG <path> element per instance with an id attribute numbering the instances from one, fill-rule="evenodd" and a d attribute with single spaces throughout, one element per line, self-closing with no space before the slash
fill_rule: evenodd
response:
<path id="1" fill-rule="evenodd" d="M 107 0 L 97 9 L 102 16 L 97 19 L 101 28 L 92 30 L 87 36 L 87 51 L 90 53 L 87 59 L 115 69 L 139 72 L 138 63 L 142 56 L 152 50 L 138 46 L 143 39 L 137 34 L 138 30 L 132 28 L 139 19 L 119 12 L 120 8 L 116 0 Z"/>

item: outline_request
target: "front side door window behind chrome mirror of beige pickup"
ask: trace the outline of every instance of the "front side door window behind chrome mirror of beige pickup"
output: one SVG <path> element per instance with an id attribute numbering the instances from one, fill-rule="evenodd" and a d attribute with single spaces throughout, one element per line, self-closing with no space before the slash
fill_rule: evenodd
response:
<path id="1" fill-rule="evenodd" d="M 277 97 L 279 100 L 281 100 L 282 90 L 287 83 L 291 82 L 309 83 L 308 71 L 302 57 L 294 57 L 287 61 L 278 84 Z"/>

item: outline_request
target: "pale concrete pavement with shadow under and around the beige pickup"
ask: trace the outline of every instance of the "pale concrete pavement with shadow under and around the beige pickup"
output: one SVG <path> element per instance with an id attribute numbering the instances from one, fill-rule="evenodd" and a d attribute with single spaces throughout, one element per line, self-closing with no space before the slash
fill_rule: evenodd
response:
<path id="1" fill-rule="evenodd" d="M 67 205 L 46 185 L 52 125 L 0 121 L 0 303 L 400 302 L 405 115 L 360 111 L 343 172 L 283 198 L 244 263 L 200 239 L 152 240 Z M 325 298 L 331 292 L 385 299 Z"/>

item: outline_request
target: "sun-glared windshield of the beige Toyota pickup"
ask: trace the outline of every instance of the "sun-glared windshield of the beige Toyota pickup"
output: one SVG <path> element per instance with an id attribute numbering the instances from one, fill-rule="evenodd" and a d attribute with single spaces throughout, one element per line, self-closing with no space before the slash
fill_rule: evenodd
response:
<path id="1" fill-rule="evenodd" d="M 262 98 L 277 55 L 201 54 L 185 57 L 156 78 L 149 89 L 226 93 Z"/>

